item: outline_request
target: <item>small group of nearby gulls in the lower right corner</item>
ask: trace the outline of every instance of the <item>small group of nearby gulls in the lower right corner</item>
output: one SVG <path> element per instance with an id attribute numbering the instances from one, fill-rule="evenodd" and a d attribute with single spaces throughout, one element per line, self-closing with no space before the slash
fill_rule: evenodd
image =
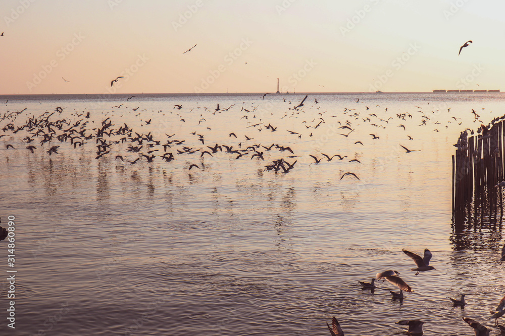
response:
<path id="1" fill-rule="evenodd" d="M 402 250 L 403 253 L 405 253 L 407 256 L 412 258 L 414 262 L 416 263 L 415 268 L 411 268 L 411 271 L 416 272 L 416 276 L 420 272 L 426 272 L 426 271 L 431 271 L 435 270 L 435 267 L 430 265 L 430 260 L 431 257 L 433 256 L 430 250 L 427 248 L 424 250 L 424 256 L 421 257 L 420 255 L 407 251 L 407 250 Z M 501 248 L 501 258 L 498 260 L 500 263 L 505 261 L 505 245 Z M 375 278 L 372 278 L 372 281 L 370 283 L 367 282 L 362 282 L 359 281 L 361 286 L 363 287 L 363 290 L 370 289 L 371 293 L 374 293 L 374 290 L 377 288 L 375 285 L 375 281 L 380 281 L 384 282 L 384 280 L 387 280 L 389 283 L 393 284 L 394 286 L 398 287 L 400 289 L 399 293 L 388 290 L 391 293 L 392 299 L 393 300 L 403 300 L 403 291 L 407 293 L 412 293 L 414 292 L 412 288 L 405 282 L 403 281 L 400 277 L 398 277 L 400 273 L 396 271 L 384 271 L 381 273 L 377 273 Z M 448 298 L 450 302 L 453 304 L 455 307 L 461 307 L 463 308 L 466 305 L 465 302 L 465 294 L 461 295 L 461 299 L 452 299 Z M 498 303 L 498 307 L 496 308 L 496 311 L 491 311 L 491 317 L 495 319 L 495 326 L 500 330 L 500 335 L 505 335 L 505 326 L 498 324 L 498 318 L 502 317 L 505 315 L 505 296 L 503 296 Z M 464 317 L 463 320 L 468 323 L 469 326 L 471 326 L 474 329 L 475 335 L 476 336 L 489 336 L 491 329 L 487 328 L 483 324 L 477 322 L 476 320 L 468 317 Z M 407 334 L 410 335 L 422 335 L 424 333 L 423 331 L 423 324 L 425 322 L 422 320 L 401 320 L 396 322 L 396 324 L 399 325 L 408 325 L 409 329 L 407 331 Z M 326 323 L 328 326 L 328 329 L 330 330 L 331 336 L 344 336 L 344 332 L 340 326 L 340 323 L 338 320 L 335 318 L 335 316 L 332 317 L 332 325 L 330 326 L 328 323 Z"/>

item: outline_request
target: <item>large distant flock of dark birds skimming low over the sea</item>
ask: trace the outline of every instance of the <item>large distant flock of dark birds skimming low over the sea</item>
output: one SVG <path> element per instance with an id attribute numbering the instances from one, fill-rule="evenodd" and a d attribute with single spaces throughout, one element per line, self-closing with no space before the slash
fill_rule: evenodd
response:
<path id="1" fill-rule="evenodd" d="M 120 78 L 113 80 L 111 85 Z M 262 100 L 265 99 L 265 96 L 261 97 Z M 242 106 L 236 106 L 237 103 L 235 103 L 227 108 L 222 108 L 219 103 L 215 103 L 216 107 L 200 106 L 198 102 L 190 103 L 190 107 L 185 107 L 186 103 L 183 102 L 174 104 L 173 108 L 166 112 L 163 110 L 147 111 L 146 109 L 137 112 L 140 102 L 135 102 L 135 98 L 135 96 L 128 97 L 126 103 L 139 104 L 137 107 L 124 106 L 126 104 L 124 103 L 112 107 L 112 111 L 107 112 L 98 110 L 76 111 L 75 109 L 70 112 L 66 110 L 66 107 L 61 106 L 57 106 L 54 111 L 47 110 L 38 116 L 29 116 L 30 111 L 25 112 L 26 108 L 16 112 L 7 111 L 3 116 L 0 114 L 0 127 L 2 127 L 0 129 L 4 132 L 3 134 L 0 133 L 0 139 L 7 136 L 7 138 L 2 139 L 5 142 L 5 148 L 16 149 L 14 146 L 16 144 L 13 145 L 8 140 L 14 140 L 15 135 L 19 137 L 22 134 L 24 136 L 22 142 L 26 143 L 26 149 L 31 153 L 39 150 L 41 146 L 51 145 L 45 149 L 48 156 L 60 154 L 59 150 L 61 150 L 63 143 L 69 143 L 74 149 L 88 143 L 95 143 L 96 159 L 115 154 L 114 158 L 116 160 L 121 160 L 130 165 L 142 161 L 151 163 L 160 159 L 171 162 L 180 157 L 189 160 L 191 155 L 199 156 L 198 162 L 187 163 L 188 170 L 205 170 L 205 159 L 216 157 L 216 155 L 220 157 L 228 156 L 235 160 L 249 158 L 249 161 L 265 161 L 264 171 L 271 171 L 276 174 L 289 173 L 296 167 L 296 164 L 300 164 L 300 161 L 311 165 L 322 165 L 338 161 L 342 164 L 346 163 L 338 166 L 341 169 L 340 179 L 347 177 L 361 180 L 359 172 L 343 169 L 348 169 L 345 168 L 347 165 L 359 169 L 360 165 L 366 164 L 366 162 L 362 162 L 361 148 L 370 145 L 370 142 L 380 141 L 383 135 L 388 136 L 390 131 L 386 128 L 402 129 L 406 132 L 405 140 L 412 141 L 414 140 L 413 137 L 407 135 L 407 132 L 409 128 L 412 129 L 413 125 L 428 126 L 430 122 L 437 128 L 443 127 L 443 124 L 435 119 L 438 112 L 440 112 L 436 108 L 424 112 L 422 107 L 416 106 L 416 112 L 392 114 L 391 112 L 388 113 L 388 108 L 381 108 L 380 105 L 366 106 L 365 102 L 360 102 L 359 98 L 356 101 L 349 101 L 350 106 L 345 107 L 339 113 L 330 113 L 323 110 L 321 107 L 324 105 L 317 98 L 313 98 L 313 103 L 308 104 L 308 101 L 311 100 L 308 95 L 301 102 L 286 101 L 287 97 L 282 98 L 282 102 L 277 98 L 273 98 L 271 101 L 275 102 L 277 100 L 278 105 L 270 109 L 265 109 L 261 103 L 255 102 L 250 103 L 250 105 L 243 102 Z M 450 108 L 447 111 L 450 112 Z M 25 113 L 23 114 L 23 112 Z M 136 114 L 134 114 L 135 112 Z M 149 120 L 141 119 L 142 116 L 149 115 L 150 112 L 151 117 Z M 472 110 L 472 113 L 474 114 L 474 122 L 481 121 L 475 110 Z M 125 115 L 131 117 L 132 114 L 136 118 L 135 126 L 130 126 L 122 118 Z M 226 143 L 222 142 L 223 135 L 221 134 L 218 138 L 221 140 L 220 144 L 216 140 L 209 144 L 209 137 L 213 137 L 210 126 L 215 126 L 208 123 L 207 120 L 217 116 L 231 117 L 232 115 L 238 120 L 227 120 L 226 122 L 234 127 L 242 124 L 244 127 L 243 132 L 239 133 L 237 130 L 227 132 Z M 19 120 L 18 117 L 21 118 L 21 116 L 26 116 L 27 119 L 20 124 L 16 119 Z M 188 135 L 178 134 L 176 136 L 175 133 L 165 133 L 165 137 L 158 136 L 155 138 L 150 131 L 141 132 L 139 130 L 139 127 L 145 126 L 143 129 L 148 128 L 153 120 L 167 120 L 168 118 L 171 119 L 170 125 L 165 129 L 169 132 L 176 127 L 183 127 L 182 129 L 188 130 L 194 127 L 195 130 L 189 133 L 189 139 L 187 138 Z M 456 116 L 451 118 L 453 122 L 461 124 L 461 118 Z M 449 127 L 450 123 L 451 121 L 444 122 L 445 127 Z M 291 129 L 282 128 L 284 124 L 289 125 L 288 127 Z M 433 131 L 439 131 L 437 128 L 434 128 Z M 300 153 L 297 151 L 298 139 L 302 139 L 302 141 L 308 139 L 316 142 L 316 139 L 321 138 L 321 133 L 326 134 L 329 129 L 334 130 L 331 141 L 338 144 L 347 142 L 354 155 L 350 153 L 323 153 L 323 149 L 318 150 L 317 147 L 315 153 Z M 363 129 L 375 129 L 370 133 L 368 141 L 356 139 L 363 137 Z M 265 144 L 256 142 L 255 138 L 265 139 L 263 137 L 265 132 L 271 135 L 266 138 L 270 141 L 274 137 L 274 139 L 282 138 L 283 141 L 289 143 L 270 142 Z M 9 133 L 11 134 L 9 135 Z M 37 138 L 40 140 L 37 141 Z M 134 155 L 134 157 L 126 157 L 126 153 L 121 153 L 121 148 L 118 147 L 122 146 L 115 146 L 119 144 L 128 145 L 125 151 Z M 407 148 L 401 143 L 398 146 L 406 154 L 419 151 L 418 149 L 412 149 L 411 146 L 409 146 L 411 148 Z M 314 148 L 314 146 L 311 147 Z M 271 160 L 270 163 L 267 163 L 267 160 Z"/>

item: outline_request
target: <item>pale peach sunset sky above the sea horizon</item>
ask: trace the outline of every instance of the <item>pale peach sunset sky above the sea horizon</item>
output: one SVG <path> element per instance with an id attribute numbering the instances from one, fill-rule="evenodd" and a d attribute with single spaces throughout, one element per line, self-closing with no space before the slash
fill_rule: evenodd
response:
<path id="1" fill-rule="evenodd" d="M 505 90 L 505 3 L 490 0 L 4 0 L 0 13 L 0 94 L 107 93 L 118 76 L 117 93 L 275 92 L 277 78 L 290 92 Z"/>

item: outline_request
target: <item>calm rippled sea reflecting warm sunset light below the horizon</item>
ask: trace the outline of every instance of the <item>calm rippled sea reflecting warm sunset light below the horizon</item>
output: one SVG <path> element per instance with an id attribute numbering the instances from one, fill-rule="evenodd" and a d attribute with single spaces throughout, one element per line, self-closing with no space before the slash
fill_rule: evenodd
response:
<path id="1" fill-rule="evenodd" d="M 95 159 L 94 138 L 74 149 L 0 130 L 0 217 L 2 226 L 16 218 L 17 270 L 11 329 L 12 268 L 0 242 L 3 334 L 327 335 L 332 315 L 356 335 L 402 334 L 401 319 L 425 321 L 426 335 L 473 334 L 466 316 L 494 323 L 489 310 L 505 294 L 501 225 L 453 231 L 451 155 L 462 130 L 504 114 L 503 95 L 309 95 L 298 110 L 305 95 L 135 96 L 5 97 L 0 116 L 26 110 L 2 128 L 61 107 L 49 120 L 87 121 L 85 135 L 107 120 L 161 144 L 133 153 L 130 141 L 112 143 Z M 167 148 L 171 162 L 158 157 L 167 140 L 184 141 Z M 222 147 L 200 156 L 215 144 L 294 153 L 259 147 L 264 161 L 250 150 L 236 159 Z M 141 156 L 149 150 L 158 150 L 150 163 Z M 297 161 L 287 174 L 264 170 L 281 158 Z M 401 250 L 425 248 L 436 271 L 414 276 Z M 399 302 L 387 282 L 361 289 L 385 270 L 415 292 Z M 453 308 L 447 297 L 461 294 L 468 305 Z"/>

